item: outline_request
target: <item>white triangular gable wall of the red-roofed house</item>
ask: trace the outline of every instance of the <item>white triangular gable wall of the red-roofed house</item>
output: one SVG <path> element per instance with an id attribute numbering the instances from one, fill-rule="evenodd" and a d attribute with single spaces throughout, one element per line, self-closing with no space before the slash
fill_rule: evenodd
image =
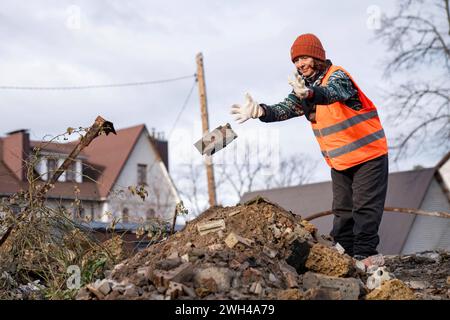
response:
<path id="1" fill-rule="evenodd" d="M 128 190 L 129 186 L 137 186 L 138 164 L 147 165 L 147 187 L 145 189 L 148 197 L 145 201 L 139 196 L 133 196 Z M 170 180 L 167 179 L 157 161 L 151 142 L 145 133 L 138 138 L 107 201 L 108 209 L 115 217 L 120 218 L 124 208 L 127 208 L 130 222 L 145 221 L 146 214 L 150 209 L 153 209 L 159 218 L 167 221 L 172 218 L 176 205 L 175 195 Z"/>

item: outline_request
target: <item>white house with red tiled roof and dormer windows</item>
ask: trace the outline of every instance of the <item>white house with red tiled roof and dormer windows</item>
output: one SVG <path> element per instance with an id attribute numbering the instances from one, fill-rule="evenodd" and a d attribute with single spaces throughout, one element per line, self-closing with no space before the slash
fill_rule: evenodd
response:
<path id="1" fill-rule="evenodd" d="M 45 183 L 77 141 L 31 141 L 27 130 L 0 138 L 0 197 Z M 31 168 L 31 170 L 30 170 Z M 132 190 L 145 190 L 142 199 Z M 47 204 L 98 222 L 170 221 L 178 200 L 168 172 L 168 144 L 145 125 L 100 135 L 86 147 L 47 194 Z"/>

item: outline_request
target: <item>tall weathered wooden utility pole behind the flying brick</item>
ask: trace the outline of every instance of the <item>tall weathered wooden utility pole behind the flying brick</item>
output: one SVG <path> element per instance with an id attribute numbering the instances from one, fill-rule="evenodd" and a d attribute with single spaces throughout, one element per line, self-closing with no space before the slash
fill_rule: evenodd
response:
<path id="1" fill-rule="evenodd" d="M 203 55 L 198 53 L 196 56 L 197 61 L 197 82 L 198 82 L 198 93 L 200 95 L 200 108 L 202 114 L 202 129 L 203 134 L 209 132 L 209 120 L 208 120 L 208 105 L 206 101 L 206 85 L 205 85 L 205 71 L 203 69 Z M 212 164 L 211 156 L 206 156 L 206 177 L 208 179 L 208 195 L 209 195 L 209 205 L 215 206 L 217 204 L 216 200 L 216 183 L 214 181 L 214 167 Z"/>

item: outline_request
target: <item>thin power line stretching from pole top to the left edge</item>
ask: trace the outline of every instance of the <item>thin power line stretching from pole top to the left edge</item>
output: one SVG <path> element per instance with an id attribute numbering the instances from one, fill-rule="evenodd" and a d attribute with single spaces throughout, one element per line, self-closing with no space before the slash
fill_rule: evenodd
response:
<path id="1" fill-rule="evenodd" d="M 195 77 L 195 74 L 177 77 L 177 78 L 154 80 L 154 81 L 125 82 L 125 83 L 98 84 L 98 85 L 57 86 L 57 87 L 0 86 L 0 90 L 84 90 L 84 89 L 99 89 L 99 88 L 134 87 L 134 86 L 147 86 L 147 85 L 152 85 L 152 84 L 174 82 L 174 81 L 179 81 L 179 80 L 193 78 L 193 77 Z"/>

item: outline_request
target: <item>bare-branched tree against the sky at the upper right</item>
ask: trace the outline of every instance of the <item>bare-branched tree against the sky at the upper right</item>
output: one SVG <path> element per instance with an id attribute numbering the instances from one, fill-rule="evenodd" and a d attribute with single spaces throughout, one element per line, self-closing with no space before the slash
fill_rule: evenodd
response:
<path id="1" fill-rule="evenodd" d="M 392 145 L 394 159 L 435 147 L 447 151 L 450 148 L 449 0 L 399 0 L 398 11 L 383 18 L 376 36 L 392 52 L 385 75 L 394 77 L 406 71 L 411 79 L 387 93 L 389 120 L 401 128 Z M 434 69 L 440 70 L 441 75 L 427 79 L 426 71 Z"/>

